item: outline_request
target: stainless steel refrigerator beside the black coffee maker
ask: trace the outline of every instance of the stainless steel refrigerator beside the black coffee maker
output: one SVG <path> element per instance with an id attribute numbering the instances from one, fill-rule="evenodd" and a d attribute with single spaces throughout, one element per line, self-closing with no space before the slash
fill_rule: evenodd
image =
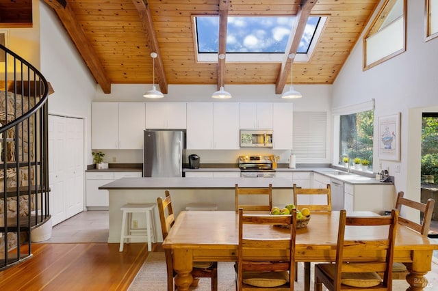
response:
<path id="1" fill-rule="evenodd" d="M 182 177 L 185 131 L 144 130 L 143 177 Z"/>

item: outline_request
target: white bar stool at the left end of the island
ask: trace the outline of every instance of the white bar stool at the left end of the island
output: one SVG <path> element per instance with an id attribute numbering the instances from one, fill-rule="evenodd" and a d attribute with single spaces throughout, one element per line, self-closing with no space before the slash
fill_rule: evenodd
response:
<path id="1" fill-rule="evenodd" d="M 123 211 L 122 218 L 122 231 L 120 232 L 120 248 L 118 251 L 123 251 L 123 245 L 125 238 L 128 239 L 128 243 L 131 243 L 131 238 L 138 238 L 146 236 L 144 234 L 132 234 L 133 232 L 145 232 L 147 234 L 148 251 L 152 251 L 152 243 L 156 243 L 155 236 L 155 223 L 153 221 L 153 209 L 155 204 L 125 204 L 120 210 Z M 146 228 L 131 228 L 132 213 L 144 213 L 146 214 Z M 128 227 L 126 229 L 126 225 Z"/>

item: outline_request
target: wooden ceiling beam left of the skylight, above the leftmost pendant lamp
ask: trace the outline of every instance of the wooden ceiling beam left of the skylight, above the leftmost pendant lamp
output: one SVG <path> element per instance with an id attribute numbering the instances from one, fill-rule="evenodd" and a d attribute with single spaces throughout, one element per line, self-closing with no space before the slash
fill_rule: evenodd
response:
<path id="1" fill-rule="evenodd" d="M 149 10 L 149 5 L 147 0 L 132 0 L 137 8 L 138 15 L 142 21 L 143 31 L 146 35 L 146 42 L 151 50 L 151 53 L 157 53 L 157 58 L 155 59 L 155 72 L 157 73 L 157 83 L 159 89 L 163 94 L 168 93 L 168 83 L 166 78 L 166 72 L 164 71 L 164 64 L 162 59 L 162 54 L 159 51 L 159 45 L 157 40 L 157 35 L 155 34 L 155 28 L 153 26 L 153 20 L 151 15 L 151 10 Z"/>

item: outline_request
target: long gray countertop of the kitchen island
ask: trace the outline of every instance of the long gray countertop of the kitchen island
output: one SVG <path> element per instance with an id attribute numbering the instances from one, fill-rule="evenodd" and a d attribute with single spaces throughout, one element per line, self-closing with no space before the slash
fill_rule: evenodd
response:
<path id="1" fill-rule="evenodd" d="M 235 184 L 242 187 L 266 187 L 272 189 L 292 189 L 292 184 L 285 178 L 121 178 L 99 189 L 235 189 Z"/>

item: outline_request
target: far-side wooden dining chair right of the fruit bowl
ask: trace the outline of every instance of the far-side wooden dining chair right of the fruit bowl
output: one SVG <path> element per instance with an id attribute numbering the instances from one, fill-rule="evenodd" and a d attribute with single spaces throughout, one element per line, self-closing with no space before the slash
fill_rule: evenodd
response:
<path id="1" fill-rule="evenodd" d="M 298 203 L 298 197 L 301 198 L 301 201 L 307 199 L 305 204 Z M 311 202 L 311 198 L 318 199 L 321 202 L 320 204 L 313 204 Z M 331 188 L 330 184 L 327 184 L 326 188 L 301 188 L 297 187 L 294 184 L 294 204 L 298 209 L 309 208 L 310 212 L 330 212 L 331 211 Z M 304 285 L 305 291 L 310 290 L 310 268 L 311 263 L 304 263 Z M 296 272 L 298 270 L 298 264 L 296 266 Z M 295 279 L 297 280 L 297 274 L 295 275 Z"/>

